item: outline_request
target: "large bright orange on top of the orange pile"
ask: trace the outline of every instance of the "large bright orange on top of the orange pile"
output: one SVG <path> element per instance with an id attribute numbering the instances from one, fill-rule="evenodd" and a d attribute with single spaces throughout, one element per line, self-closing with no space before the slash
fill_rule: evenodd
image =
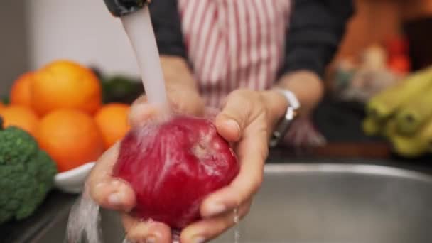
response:
<path id="1" fill-rule="evenodd" d="M 102 103 L 102 87 L 89 68 L 57 60 L 36 72 L 32 85 L 33 108 L 38 114 L 55 109 L 79 109 L 94 114 Z"/>

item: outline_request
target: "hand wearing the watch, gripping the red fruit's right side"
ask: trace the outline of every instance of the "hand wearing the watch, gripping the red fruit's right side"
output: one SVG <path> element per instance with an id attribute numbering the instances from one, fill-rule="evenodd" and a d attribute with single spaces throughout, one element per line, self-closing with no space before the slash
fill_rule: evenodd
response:
<path id="1" fill-rule="evenodd" d="M 235 224 L 234 209 L 240 219 L 247 215 L 263 180 L 270 131 L 287 105 L 286 99 L 273 91 L 235 90 L 227 97 L 222 112 L 215 117 L 215 126 L 234 144 L 240 172 L 229 186 L 202 202 L 202 220 L 183 229 L 181 242 L 207 242 L 222 234 Z"/>

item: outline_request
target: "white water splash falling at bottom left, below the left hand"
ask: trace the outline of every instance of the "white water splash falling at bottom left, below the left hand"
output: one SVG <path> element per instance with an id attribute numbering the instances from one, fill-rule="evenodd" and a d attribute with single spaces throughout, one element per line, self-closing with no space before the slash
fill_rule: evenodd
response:
<path id="1" fill-rule="evenodd" d="M 72 206 L 66 232 L 67 243 L 80 243 L 82 239 L 89 243 L 102 243 L 99 205 L 87 190 Z"/>

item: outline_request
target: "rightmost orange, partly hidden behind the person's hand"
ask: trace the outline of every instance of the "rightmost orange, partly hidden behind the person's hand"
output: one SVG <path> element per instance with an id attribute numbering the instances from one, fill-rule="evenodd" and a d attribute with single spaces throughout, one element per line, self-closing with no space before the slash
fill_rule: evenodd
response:
<path id="1" fill-rule="evenodd" d="M 95 121 L 104 138 L 105 148 L 111 147 L 129 131 L 129 105 L 105 104 L 95 115 Z"/>

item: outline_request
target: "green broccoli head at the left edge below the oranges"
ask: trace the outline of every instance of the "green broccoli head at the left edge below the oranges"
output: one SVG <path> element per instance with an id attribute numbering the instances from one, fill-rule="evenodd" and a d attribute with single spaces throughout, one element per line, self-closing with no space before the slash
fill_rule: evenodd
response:
<path id="1" fill-rule="evenodd" d="M 0 117 L 0 224 L 22 220 L 53 188 L 57 168 L 36 140 L 22 129 L 3 129 Z"/>

